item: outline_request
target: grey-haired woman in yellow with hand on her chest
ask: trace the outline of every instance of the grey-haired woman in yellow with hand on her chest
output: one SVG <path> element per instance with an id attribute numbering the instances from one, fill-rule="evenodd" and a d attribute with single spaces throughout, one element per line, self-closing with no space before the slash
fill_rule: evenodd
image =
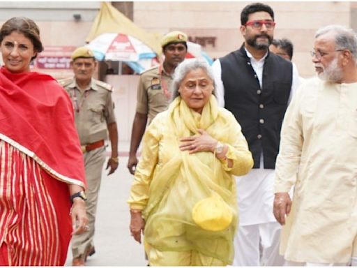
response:
<path id="1" fill-rule="evenodd" d="M 130 191 L 130 231 L 151 266 L 223 266 L 234 257 L 236 182 L 252 168 L 241 126 L 218 107 L 211 67 L 187 59 L 147 128 Z"/>

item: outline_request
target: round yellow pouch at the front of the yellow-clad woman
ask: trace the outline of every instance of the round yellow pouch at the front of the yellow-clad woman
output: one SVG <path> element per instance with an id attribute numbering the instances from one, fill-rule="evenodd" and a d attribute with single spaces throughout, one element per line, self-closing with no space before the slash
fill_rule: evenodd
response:
<path id="1" fill-rule="evenodd" d="M 233 213 L 220 195 L 213 193 L 210 198 L 205 198 L 195 204 L 192 209 L 192 218 L 200 228 L 217 232 L 228 228 L 233 219 Z"/>

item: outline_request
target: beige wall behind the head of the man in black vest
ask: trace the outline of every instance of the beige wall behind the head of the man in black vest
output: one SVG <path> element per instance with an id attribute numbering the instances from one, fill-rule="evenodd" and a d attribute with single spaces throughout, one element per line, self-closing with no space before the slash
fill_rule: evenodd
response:
<path id="1" fill-rule="evenodd" d="M 239 31 L 243 1 L 135 2 L 134 22 L 151 32 L 165 34 L 179 29 L 189 36 L 215 36 L 215 47 L 208 45 L 211 57 L 222 57 L 236 50 L 243 38 Z M 310 53 L 314 31 L 327 24 L 350 26 L 351 3 L 347 1 L 266 1 L 274 10 L 276 38 L 294 43 L 294 62 L 303 77 L 314 75 Z M 356 6 L 356 3 L 354 4 Z"/>

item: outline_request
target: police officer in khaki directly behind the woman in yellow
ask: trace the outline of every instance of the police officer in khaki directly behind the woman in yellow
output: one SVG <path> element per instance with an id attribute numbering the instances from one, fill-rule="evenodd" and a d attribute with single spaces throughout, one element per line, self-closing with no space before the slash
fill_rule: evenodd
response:
<path id="1" fill-rule="evenodd" d="M 137 87 L 137 110 L 132 123 L 128 169 L 135 173 L 137 149 L 142 141 L 146 123 L 167 109 L 171 98 L 172 75 L 176 66 L 185 59 L 188 37 L 181 31 L 172 31 L 161 40 L 165 55 L 163 64 L 140 75 Z"/>

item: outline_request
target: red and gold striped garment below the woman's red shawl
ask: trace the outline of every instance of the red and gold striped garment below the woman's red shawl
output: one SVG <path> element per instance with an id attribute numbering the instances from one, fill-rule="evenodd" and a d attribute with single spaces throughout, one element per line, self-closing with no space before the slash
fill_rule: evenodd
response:
<path id="1" fill-rule="evenodd" d="M 0 140 L 0 266 L 64 265 L 68 196 L 67 184 Z"/>

